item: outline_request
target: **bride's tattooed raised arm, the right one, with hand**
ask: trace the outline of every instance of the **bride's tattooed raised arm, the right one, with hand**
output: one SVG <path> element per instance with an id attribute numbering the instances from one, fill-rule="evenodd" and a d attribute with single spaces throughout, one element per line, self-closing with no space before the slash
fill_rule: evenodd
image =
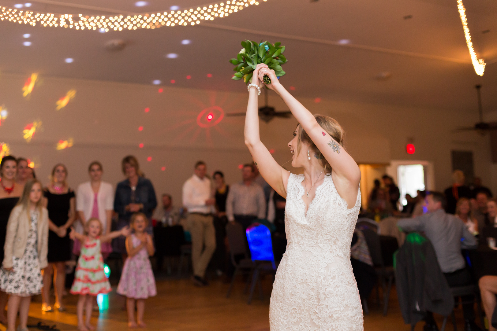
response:
<path id="1" fill-rule="evenodd" d="M 311 114 L 297 99 L 295 99 L 278 81 L 274 70 L 261 64 L 257 66 L 258 78 L 264 75 L 269 76 L 271 84 L 266 85 L 275 91 L 285 101 L 293 116 L 302 126 L 302 129 L 309 135 L 314 144 L 331 165 L 331 176 L 336 191 L 347 201 L 350 208 L 355 205 L 357 199 L 361 172 L 354 159 L 335 141 L 328 132 L 323 130 L 318 124 L 314 115 Z M 254 72 L 255 75 L 255 72 Z"/>

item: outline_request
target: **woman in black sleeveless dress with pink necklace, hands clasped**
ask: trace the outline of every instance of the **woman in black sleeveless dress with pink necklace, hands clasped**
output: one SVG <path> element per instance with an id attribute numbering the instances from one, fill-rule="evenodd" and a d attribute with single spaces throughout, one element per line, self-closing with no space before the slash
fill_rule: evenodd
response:
<path id="1" fill-rule="evenodd" d="M 63 164 L 55 165 L 52 170 L 50 185 L 43 190 L 44 203 L 48 209 L 48 266 L 43 270 L 43 290 L 41 309 L 51 312 L 66 310 L 62 303 L 66 282 L 66 261 L 71 260 L 71 239 L 69 227 L 76 219 L 76 198 L 74 191 L 66 184 L 67 168 Z M 54 273 L 55 271 L 55 273 Z M 52 274 L 55 283 L 55 305 L 50 305 L 50 288 Z"/>

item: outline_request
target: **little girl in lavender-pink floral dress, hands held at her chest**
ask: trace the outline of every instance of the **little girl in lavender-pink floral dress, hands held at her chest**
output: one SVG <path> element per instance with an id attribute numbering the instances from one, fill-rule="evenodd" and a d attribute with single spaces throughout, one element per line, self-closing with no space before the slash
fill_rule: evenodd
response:
<path id="1" fill-rule="evenodd" d="M 154 255 L 152 237 L 145 232 L 148 225 L 147 216 L 136 213 L 131 217 L 130 226 L 135 233 L 126 238 L 128 258 L 123 266 L 117 293 L 126 296 L 128 309 L 128 326 L 145 328 L 143 314 L 145 299 L 157 295 L 154 273 L 149 256 Z M 135 322 L 135 301 L 138 312 L 138 324 Z"/>

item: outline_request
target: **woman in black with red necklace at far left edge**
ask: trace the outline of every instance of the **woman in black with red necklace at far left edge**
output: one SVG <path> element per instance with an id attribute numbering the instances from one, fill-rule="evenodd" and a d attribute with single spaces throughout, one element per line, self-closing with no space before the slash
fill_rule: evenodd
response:
<path id="1" fill-rule="evenodd" d="M 10 211 L 15 207 L 19 197 L 22 195 L 24 185 L 15 183 L 17 175 L 17 161 L 13 156 L 4 156 L 0 163 L 0 265 L 3 262 L 3 245 L 7 233 L 7 222 Z M 6 325 L 7 318 L 4 315 L 7 304 L 7 294 L 0 292 L 0 323 Z"/>

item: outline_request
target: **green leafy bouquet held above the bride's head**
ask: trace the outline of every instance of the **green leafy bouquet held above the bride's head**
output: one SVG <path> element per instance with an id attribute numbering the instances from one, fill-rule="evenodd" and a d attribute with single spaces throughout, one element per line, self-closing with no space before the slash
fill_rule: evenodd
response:
<path id="1" fill-rule="evenodd" d="M 231 59 L 230 62 L 235 66 L 233 69 L 236 71 L 233 79 L 240 80 L 244 79 L 244 82 L 248 84 L 250 79 L 252 79 L 253 70 L 258 64 L 266 64 L 269 69 L 273 69 L 276 73 L 276 77 L 283 76 L 285 71 L 281 68 L 281 65 L 287 62 L 283 52 L 285 51 L 285 46 L 280 46 L 281 43 L 271 44 L 267 41 L 256 43 L 254 41 L 246 40 L 242 41 L 242 50 L 238 53 L 236 59 Z M 270 84 L 271 79 L 267 75 L 264 75 L 262 79 L 265 84 Z"/>

